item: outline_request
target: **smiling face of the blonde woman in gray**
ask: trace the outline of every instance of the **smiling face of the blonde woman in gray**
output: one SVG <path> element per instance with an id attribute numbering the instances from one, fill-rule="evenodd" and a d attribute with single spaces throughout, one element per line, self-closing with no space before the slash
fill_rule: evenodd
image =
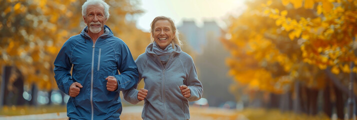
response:
<path id="1" fill-rule="evenodd" d="M 157 20 L 153 32 L 153 38 L 161 49 L 165 49 L 175 35 L 168 20 Z"/>

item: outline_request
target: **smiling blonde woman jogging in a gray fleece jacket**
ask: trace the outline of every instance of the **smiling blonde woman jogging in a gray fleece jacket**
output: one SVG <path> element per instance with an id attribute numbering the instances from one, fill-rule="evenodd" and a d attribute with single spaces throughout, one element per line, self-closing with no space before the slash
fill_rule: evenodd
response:
<path id="1" fill-rule="evenodd" d="M 144 100 L 143 119 L 189 119 L 188 101 L 203 92 L 192 57 L 181 50 L 171 18 L 157 16 L 150 25 L 151 43 L 135 60 L 145 87 L 124 91 L 124 99 L 132 104 Z"/>

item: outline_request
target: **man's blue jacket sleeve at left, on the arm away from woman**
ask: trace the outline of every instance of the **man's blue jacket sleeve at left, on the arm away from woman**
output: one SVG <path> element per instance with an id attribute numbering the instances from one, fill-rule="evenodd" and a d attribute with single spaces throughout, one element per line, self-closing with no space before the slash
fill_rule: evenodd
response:
<path id="1" fill-rule="evenodd" d="M 73 83 L 72 77 L 70 74 L 70 68 L 72 67 L 72 63 L 69 58 L 69 51 L 71 49 L 68 46 L 68 40 L 59 50 L 56 59 L 54 60 L 54 79 L 56 80 L 58 88 L 68 94 L 69 86 Z"/>

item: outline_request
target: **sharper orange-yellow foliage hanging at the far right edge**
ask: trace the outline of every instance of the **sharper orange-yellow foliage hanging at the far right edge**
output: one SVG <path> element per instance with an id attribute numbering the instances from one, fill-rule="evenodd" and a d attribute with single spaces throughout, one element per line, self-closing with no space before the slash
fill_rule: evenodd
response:
<path id="1" fill-rule="evenodd" d="M 357 1 L 355 0 L 281 0 L 290 9 L 309 9 L 314 17 L 294 18 L 288 16 L 286 10 L 280 13 L 269 12 L 273 7 L 268 6 L 265 11 L 275 19 L 276 25 L 289 32 L 291 40 L 297 40 L 302 51 L 303 61 L 324 69 L 329 79 L 339 90 L 349 94 L 349 115 L 355 107 L 353 100 L 355 92 L 348 85 L 353 85 L 357 62 L 355 49 Z M 297 14 L 295 14 L 297 15 Z M 290 27 L 290 28 L 288 28 Z M 349 78 L 348 78 L 349 74 Z M 338 97 L 337 97 L 338 98 Z M 337 99 L 338 100 L 338 99 Z M 340 106 L 343 105 L 343 101 Z M 337 103 L 338 104 L 338 103 Z M 342 118 L 342 108 L 337 115 Z M 351 117 L 351 116 L 349 116 Z"/>

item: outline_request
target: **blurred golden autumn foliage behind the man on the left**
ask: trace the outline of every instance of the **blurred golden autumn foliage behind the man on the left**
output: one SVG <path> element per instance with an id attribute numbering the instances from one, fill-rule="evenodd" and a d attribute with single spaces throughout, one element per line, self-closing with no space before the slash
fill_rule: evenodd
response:
<path id="1" fill-rule="evenodd" d="M 31 84 L 43 90 L 57 88 L 53 77 L 53 61 L 62 44 L 85 26 L 81 15 L 81 5 L 84 1 L 1 1 L 0 10 L 3 12 L 0 14 L 0 73 L 1 76 L 16 74 L 8 80 L 1 79 L 5 89 L 15 90 L 12 85 L 20 75 L 23 76 L 26 88 L 31 88 Z M 106 2 L 110 5 L 110 18 L 106 25 L 112 28 L 115 36 L 127 42 L 133 56 L 142 53 L 142 49 L 147 45 L 145 43 L 149 41 L 149 35 L 135 27 L 134 15 L 142 12 L 136 7 L 138 1 Z M 14 72 L 4 74 L 4 70 Z M 21 95 L 22 92 L 17 94 Z"/>

